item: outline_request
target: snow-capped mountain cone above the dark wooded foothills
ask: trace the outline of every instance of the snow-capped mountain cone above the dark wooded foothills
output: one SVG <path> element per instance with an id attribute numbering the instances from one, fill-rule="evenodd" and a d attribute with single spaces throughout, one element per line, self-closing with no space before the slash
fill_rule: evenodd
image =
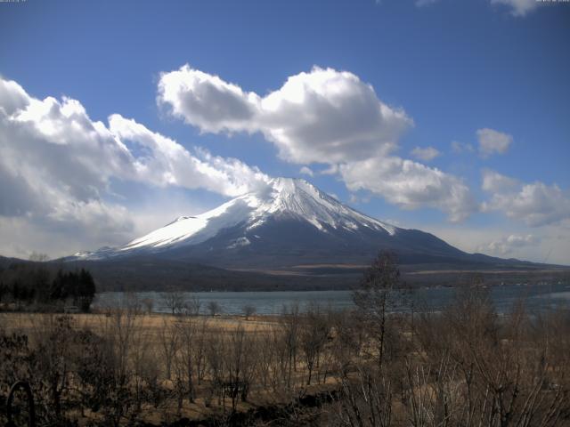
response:
<path id="1" fill-rule="evenodd" d="M 182 216 L 125 246 L 79 253 L 68 261 L 134 256 L 199 262 L 232 270 L 360 267 L 386 249 L 403 264 L 497 264 L 436 236 L 381 222 L 342 204 L 311 183 L 276 178 L 205 214 Z M 511 260 L 514 261 L 514 260 Z"/>

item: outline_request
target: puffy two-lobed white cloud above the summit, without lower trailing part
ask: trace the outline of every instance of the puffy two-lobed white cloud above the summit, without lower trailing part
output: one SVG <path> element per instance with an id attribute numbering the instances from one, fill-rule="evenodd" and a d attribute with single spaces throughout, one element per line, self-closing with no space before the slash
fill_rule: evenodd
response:
<path id="1" fill-rule="evenodd" d="M 202 132 L 260 132 L 297 163 L 334 163 L 395 149 L 413 122 L 347 71 L 314 67 L 261 97 L 188 65 L 162 73 L 158 101 Z"/>

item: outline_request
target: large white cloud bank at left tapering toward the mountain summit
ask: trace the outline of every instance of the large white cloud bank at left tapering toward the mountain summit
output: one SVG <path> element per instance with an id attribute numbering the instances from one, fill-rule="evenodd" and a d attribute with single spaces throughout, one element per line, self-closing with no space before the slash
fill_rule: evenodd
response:
<path id="1" fill-rule="evenodd" d="M 20 233 L 43 230 L 54 240 L 66 235 L 87 245 L 124 243 L 134 220 L 112 201 L 118 198 L 112 181 L 236 196 L 267 179 L 237 159 L 191 153 L 134 120 L 112 115 L 105 125 L 91 120 L 79 101 L 38 100 L 0 78 L 2 240 L 12 239 L 13 227 L 28 227 Z"/>

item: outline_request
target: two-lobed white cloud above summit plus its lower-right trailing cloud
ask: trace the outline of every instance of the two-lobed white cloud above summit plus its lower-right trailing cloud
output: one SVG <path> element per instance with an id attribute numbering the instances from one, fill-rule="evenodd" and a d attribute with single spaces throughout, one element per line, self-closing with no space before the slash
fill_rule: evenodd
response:
<path id="1" fill-rule="evenodd" d="M 232 109 L 222 105 L 226 100 Z M 261 96 L 185 65 L 162 73 L 158 101 L 202 132 L 263 133 L 282 159 L 304 165 L 300 173 L 310 175 L 313 163 L 328 165 L 321 173 L 339 175 L 350 190 L 408 209 L 435 207 L 452 221 L 477 209 L 459 178 L 391 154 L 413 126 L 411 117 L 348 71 L 314 67 Z M 417 148 L 412 155 L 429 161 L 439 152 Z"/>

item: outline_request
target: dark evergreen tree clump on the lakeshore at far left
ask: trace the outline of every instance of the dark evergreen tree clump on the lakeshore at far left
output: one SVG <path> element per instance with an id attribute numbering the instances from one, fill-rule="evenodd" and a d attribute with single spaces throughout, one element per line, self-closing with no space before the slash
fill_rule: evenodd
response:
<path id="1" fill-rule="evenodd" d="M 85 269 L 66 271 L 45 262 L 14 262 L 0 268 L 0 307 L 16 304 L 46 310 L 49 306 L 77 306 L 89 311 L 96 292 Z"/>

